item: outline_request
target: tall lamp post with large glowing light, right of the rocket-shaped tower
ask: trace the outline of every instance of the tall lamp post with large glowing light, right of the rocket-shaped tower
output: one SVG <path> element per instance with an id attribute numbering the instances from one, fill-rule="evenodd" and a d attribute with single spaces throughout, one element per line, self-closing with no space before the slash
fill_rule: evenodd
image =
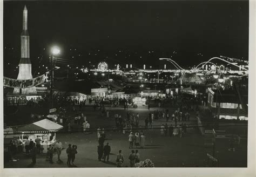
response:
<path id="1" fill-rule="evenodd" d="M 51 49 L 51 89 L 50 89 L 50 109 L 53 108 L 53 70 L 54 70 L 54 56 L 58 55 L 60 50 L 58 47 L 52 47 Z"/>

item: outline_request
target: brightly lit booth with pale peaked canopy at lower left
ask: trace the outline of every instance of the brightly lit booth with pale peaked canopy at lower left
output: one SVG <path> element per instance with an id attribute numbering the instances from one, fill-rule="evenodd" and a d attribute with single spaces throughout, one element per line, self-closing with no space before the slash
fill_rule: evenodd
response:
<path id="1" fill-rule="evenodd" d="M 23 127 L 17 128 L 16 133 L 21 133 L 21 138 L 23 140 L 23 151 L 25 152 L 25 140 L 26 137 L 32 139 L 35 142 L 37 136 L 41 139 L 41 151 L 43 153 L 47 152 L 47 148 L 50 145 L 56 144 L 56 132 L 62 129 L 63 126 L 56 124 L 48 119 L 43 119 L 32 124 L 25 125 Z"/>

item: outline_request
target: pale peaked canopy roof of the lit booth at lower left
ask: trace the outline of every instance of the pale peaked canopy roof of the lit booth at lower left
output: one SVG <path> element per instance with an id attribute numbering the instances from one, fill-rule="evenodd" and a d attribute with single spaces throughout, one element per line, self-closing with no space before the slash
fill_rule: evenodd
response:
<path id="1" fill-rule="evenodd" d="M 37 122 L 33 122 L 32 124 L 25 125 L 23 127 L 19 127 L 17 129 L 18 132 L 30 132 L 30 133 L 37 133 L 37 132 L 57 132 L 58 130 L 62 129 L 63 126 L 56 124 L 55 122 L 43 119 Z"/>

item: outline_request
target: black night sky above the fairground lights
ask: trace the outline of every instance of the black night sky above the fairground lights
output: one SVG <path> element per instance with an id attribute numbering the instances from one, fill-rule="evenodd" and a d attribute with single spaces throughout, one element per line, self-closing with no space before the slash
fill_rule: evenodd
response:
<path id="1" fill-rule="evenodd" d="M 220 55 L 248 60 L 248 2 L 4 2 L 4 47 L 14 48 L 4 50 L 5 64 L 19 62 L 24 5 L 35 65 L 53 44 L 60 57 L 85 65 L 153 65 L 171 56 L 181 66 Z M 80 56 L 70 58 L 75 49 Z"/>

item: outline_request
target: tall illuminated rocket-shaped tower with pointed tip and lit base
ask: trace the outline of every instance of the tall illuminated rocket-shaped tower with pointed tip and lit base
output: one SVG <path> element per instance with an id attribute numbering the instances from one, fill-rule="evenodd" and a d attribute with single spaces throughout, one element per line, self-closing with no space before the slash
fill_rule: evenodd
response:
<path id="1" fill-rule="evenodd" d="M 29 58 L 29 32 L 28 32 L 28 10 L 24 6 L 23 29 L 21 33 L 21 60 L 19 60 L 18 80 L 32 79 L 31 61 Z M 14 88 L 14 94 L 37 94 L 36 87 Z"/>

